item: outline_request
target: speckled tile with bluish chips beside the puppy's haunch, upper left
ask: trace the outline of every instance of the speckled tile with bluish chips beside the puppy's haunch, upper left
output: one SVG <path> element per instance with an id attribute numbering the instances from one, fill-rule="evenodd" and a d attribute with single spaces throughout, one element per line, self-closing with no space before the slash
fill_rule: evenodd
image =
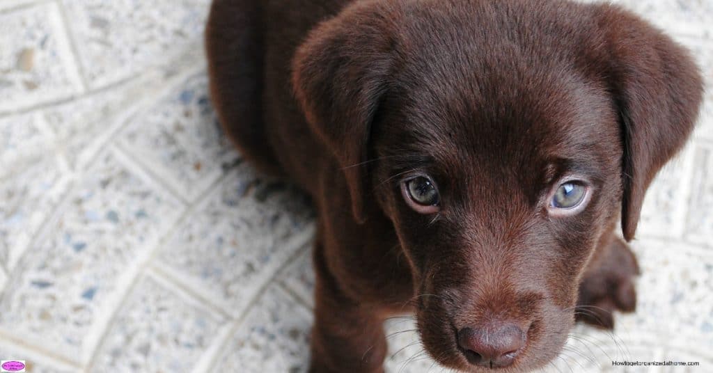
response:
<path id="1" fill-rule="evenodd" d="M 128 153 L 188 200 L 194 200 L 237 159 L 210 106 L 204 71 L 130 119 L 121 141 Z"/>

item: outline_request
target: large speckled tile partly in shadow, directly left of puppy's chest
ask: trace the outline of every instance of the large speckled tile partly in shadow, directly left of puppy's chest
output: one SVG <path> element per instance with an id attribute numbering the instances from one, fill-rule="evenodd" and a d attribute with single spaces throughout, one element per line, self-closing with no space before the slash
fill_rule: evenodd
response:
<path id="1" fill-rule="evenodd" d="M 241 163 L 179 225 L 157 259 L 225 310 L 240 312 L 312 229 L 304 195 Z"/>

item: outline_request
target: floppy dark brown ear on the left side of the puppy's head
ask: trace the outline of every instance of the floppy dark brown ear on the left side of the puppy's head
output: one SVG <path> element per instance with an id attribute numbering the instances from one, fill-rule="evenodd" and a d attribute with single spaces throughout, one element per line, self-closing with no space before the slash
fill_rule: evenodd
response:
<path id="1" fill-rule="evenodd" d="M 364 221 L 371 122 L 389 88 L 394 9 L 378 1 L 349 6 L 319 24 L 292 61 L 292 86 L 310 128 L 336 156 L 352 212 Z"/>

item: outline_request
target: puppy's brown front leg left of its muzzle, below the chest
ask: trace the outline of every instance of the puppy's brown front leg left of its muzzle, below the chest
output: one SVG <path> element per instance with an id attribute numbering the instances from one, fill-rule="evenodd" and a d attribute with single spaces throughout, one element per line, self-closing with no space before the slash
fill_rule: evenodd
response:
<path id="1" fill-rule="evenodd" d="M 320 243 L 314 247 L 317 284 L 309 372 L 384 372 L 384 320 L 344 294 L 321 249 Z"/>

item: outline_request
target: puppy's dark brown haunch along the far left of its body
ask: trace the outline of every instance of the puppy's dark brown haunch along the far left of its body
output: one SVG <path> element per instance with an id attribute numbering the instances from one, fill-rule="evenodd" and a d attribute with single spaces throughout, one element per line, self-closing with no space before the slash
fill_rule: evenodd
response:
<path id="1" fill-rule="evenodd" d="M 281 173 L 262 121 L 260 0 L 214 0 L 205 29 L 210 96 L 220 124 L 242 155 L 268 173 Z"/>

